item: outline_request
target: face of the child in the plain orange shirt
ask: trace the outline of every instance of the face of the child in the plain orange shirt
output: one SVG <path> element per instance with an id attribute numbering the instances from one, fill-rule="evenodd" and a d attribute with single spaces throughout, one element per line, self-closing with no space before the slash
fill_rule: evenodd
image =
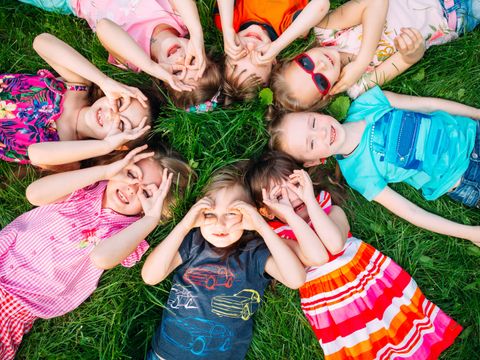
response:
<path id="1" fill-rule="evenodd" d="M 247 51 L 247 55 L 238 60 L 227 57 L 225 61 L 227 77 L 238 77 L 239 83 L 242 83 L 249 76 L 256 75 L 262 79 L 262 83 L 267 84 L 274 61 L 266 65 L 257 65 L 252 62 L 252 54 L 262 46 L 271 44 L 272 40 L 259 25 L 250 25 L 245 30 L 238 32 L 237 35 L 243 48 Z"/>

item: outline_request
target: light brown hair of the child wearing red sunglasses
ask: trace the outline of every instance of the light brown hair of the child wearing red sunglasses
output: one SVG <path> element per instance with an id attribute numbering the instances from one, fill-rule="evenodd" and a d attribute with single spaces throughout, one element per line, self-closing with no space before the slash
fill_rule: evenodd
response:
<path id="1" fill-rule="evenodd" d="M 290 90 L 290 86 L 285 80 L 285 70 L 292 61 L 293 60 L 284 60 L 273 68 L 270 87 L 273 91 L 275 105 L 288 111 L 317 111 L 325 108 L 330 104 L 332 96 L 321 95 L 320 98 L 313 103 L 305 105 L 302 104 Z"/>

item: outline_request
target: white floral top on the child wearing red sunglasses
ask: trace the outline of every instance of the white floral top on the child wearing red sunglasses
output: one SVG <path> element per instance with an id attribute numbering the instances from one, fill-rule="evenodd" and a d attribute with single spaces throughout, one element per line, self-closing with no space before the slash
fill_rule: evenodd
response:
<path id="1" fill-rule="evenodd" d="M 393 55 L 397 49 L 393 40 L 405 27 L 416 28 L 423 35 L 427 49 L 432 45 L 444 44 L 455 40 L 458 34 L 450 29 L 443 8 L 438 0 L 390 0 L 387 19 L 377 51 L 367 68 L 365 75 L 347 92 L 356 98 L 366 88 L 365 77 L 369 77 L 375 67 Z M 335 47 L 343 53 L 357 55 L 362 44 L 362 25 L 343 30 L 314 28 L 321 46 Z"/>

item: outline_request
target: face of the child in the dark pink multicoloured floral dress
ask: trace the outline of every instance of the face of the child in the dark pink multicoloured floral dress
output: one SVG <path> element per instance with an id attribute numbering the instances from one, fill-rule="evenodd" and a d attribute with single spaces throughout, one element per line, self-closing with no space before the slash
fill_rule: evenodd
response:
<path id="1" fill-rule="evenodd" d="M 119 107 L 121 102 L 119 102 Z M 150 116 L 148 109 L 145 109 L 138 100 L 132 99 L 130 105 L 120 113 L 120 130 L 137 127 L 144 117 Z M 84 126 L 78 126 L 79 129 L 84 129 L 80 136 L 104 139 L 110 131 L 114 121 L 114 112 L 104 96 L 95 101 L 85 112 L 83 119 L 79 118 L 79 122 L 83 121 Z M 81 125 L 81 124 L 79 124 Z"/>

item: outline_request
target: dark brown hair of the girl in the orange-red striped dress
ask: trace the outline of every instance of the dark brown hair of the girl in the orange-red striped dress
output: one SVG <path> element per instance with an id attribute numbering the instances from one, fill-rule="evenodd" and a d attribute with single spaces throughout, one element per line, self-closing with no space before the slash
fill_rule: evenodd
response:
<path id="1" fill-rule="evenodd" d="M 251 160 L 245 173 L 245 182 L 248 185 L 253 200 L 258 208 L 265 206 L 263 203 L 262 189 L 269 189 L 270 182 L 288 180 L 293 170 L 301 169 L 295 159 L 281 151 L 267 151 L 258 159 Z M 341 204 L 346 196 L 345 188 L 340 184 L 340 179 L 332 175 L 327 168 L 317 168 L 309 171 L 316 191 L 326 190 L 332 195 L 336 204 Z"/>

